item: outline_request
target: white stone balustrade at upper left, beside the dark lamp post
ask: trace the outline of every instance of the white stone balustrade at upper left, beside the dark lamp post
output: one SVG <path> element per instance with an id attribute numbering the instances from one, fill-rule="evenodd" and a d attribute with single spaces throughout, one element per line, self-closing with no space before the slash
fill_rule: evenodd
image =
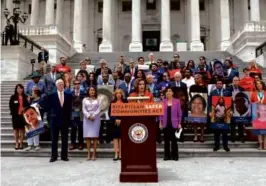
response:
<path id="1" fill-rule="evenodd" d="M 45 35 L 59 35 L 62 37 L 69 45 L 71 45 L 70 37 L 63 34 L 57 25 L 34 25 L 34 26 L 24 26 L 19 28 L 19 32 L 25 36 L 45 36 Z"/>

